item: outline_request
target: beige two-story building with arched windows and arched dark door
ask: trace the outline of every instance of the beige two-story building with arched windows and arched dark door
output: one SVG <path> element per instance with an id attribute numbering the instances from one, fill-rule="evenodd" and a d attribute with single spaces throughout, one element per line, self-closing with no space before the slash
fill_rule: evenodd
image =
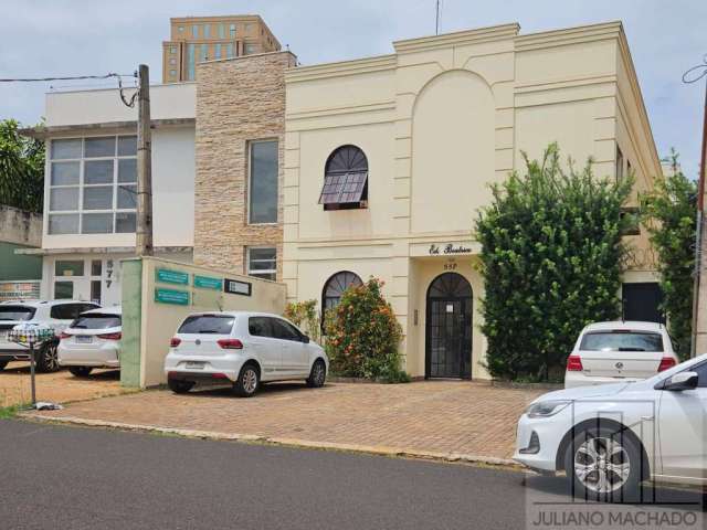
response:
<path id="1" fill-rule="evenodd" d="M 633 173 L 635 200 L 661 172 L 636 73 L 619 22 L 393 46 L 285 74 L 282 278 L 291 300 L 327 308 L 380 277 L 412 375 L 485 378 L 472 227 L 488 184 L 557 141 L 597 176 Z M 655 266 L 646 235 L 627 237 L 623 295 L 640 312 L 657 296 Z"/>

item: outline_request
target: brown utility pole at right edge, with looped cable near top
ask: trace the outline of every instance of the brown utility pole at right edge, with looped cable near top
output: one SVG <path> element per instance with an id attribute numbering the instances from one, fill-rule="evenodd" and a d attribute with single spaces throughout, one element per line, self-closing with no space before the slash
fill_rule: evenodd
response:
<path id="1" fill-rule="evenodd" d="M 698 75 L 693 77 L 692 74 Z M 693 287 L 693 337 L 690 357 L 707 353 L 707 283 L 701 282 L 704 258 L 707 255 L 707 219 L 705 218 L 705 180 L 707 179 L 707 55 L 703 64 L 689 68 L 683 75 L 684 83 L 696 83 L 705 77 L 705 105 L 703 108 L 703 150 L 697 187 L 697 226 L 695 237 L 695 278 Z"/>

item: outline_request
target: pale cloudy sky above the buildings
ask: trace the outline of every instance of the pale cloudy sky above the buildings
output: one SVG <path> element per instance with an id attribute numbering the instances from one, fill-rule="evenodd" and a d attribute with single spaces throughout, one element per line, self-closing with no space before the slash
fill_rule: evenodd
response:
<path id="1" fill-rule="evenodd" d="M 435 24 L 435 0 L 0 0 L 0 77 L 129 74 L 146 63 L 160 81 L 170 17 L 260 14 L 302 64 L 392 53 L 392 41 L 433 34 Z M 623 21 L 658 155 L 675 147 L 696 178 L 705 81 L 682 76 L 707 54 L 707 0 L 443 0 L 441 32 L 612 20 Z M 32 125 L 44 93 L 68 85 L 0 83 L 0 119 Z"/>

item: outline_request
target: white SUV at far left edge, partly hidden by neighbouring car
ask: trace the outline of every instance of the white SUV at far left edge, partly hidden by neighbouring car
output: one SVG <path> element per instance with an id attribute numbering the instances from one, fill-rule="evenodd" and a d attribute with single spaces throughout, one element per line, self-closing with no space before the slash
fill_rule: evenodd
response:
<path id="1" fill-rule="evenodd" d="M 8 332 L 19 324 L 35 324 L 52 328 L 59 336 L 77 316 L 97 304 L 81 300 L 17 300 L 0 301 L 0 370 L 10 361 L 28 360 L 28 348 L 8 340 Z M 36 356 L 36 369 L 40 372 L 59 370 L 55 341 L 44 344 Z"/>

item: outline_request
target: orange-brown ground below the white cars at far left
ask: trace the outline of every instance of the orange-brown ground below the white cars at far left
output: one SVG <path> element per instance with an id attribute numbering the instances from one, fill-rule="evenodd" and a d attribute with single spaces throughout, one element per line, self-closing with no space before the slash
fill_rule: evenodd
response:
<path id="1" fill-rule="evenodd" d="M 116 370 L 95 370 L 88 378 L 74 378 L 67 370 L 36 374 L 38 401 L 65 403 L 129 392 L 120 386 Z M 0 407 L 29 403 L 32 398 L 30 364 L 11 362 L 0 371 Z"/>

